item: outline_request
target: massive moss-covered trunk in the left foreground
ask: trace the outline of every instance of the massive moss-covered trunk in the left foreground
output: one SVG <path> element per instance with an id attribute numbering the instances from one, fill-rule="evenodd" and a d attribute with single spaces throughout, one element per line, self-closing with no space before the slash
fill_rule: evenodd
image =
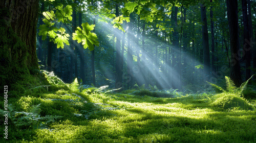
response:
<path id="1" fill-rule="evenodd" d="M 38 0 L 0 2 L 1 84 L 39 69 L 36 56 Z M 3 87 L 3 86 L 2 86 Z"/>

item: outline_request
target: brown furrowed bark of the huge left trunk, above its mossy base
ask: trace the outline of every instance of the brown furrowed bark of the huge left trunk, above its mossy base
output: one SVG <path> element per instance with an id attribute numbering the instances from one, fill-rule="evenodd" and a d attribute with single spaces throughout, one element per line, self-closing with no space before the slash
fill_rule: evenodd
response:
<path id="1" fill-rule="evenodd" d="M 9 10 L 9 16 L 3 15 L 7 27 L 11 27 L 16 35 L 24 41 L 27 46 L 27 54 L 20 56 L 27 57 L 24 63 L 29 70 L 39 69 L 36 56 L 38 0 L 5 0 L 2 1 L 2 4 L 3 6 L 1 7 Z M 13 51 L 13 53 L 15 52 L 18 53 L 19 51 Z"/>

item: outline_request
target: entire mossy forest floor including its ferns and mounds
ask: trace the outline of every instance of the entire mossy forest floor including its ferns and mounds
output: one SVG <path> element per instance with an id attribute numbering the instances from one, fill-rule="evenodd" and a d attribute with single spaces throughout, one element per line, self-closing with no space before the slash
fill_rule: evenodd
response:
<path id="1" fill-rule="evenodd" d="M 1 133 L 0 142 L 256 142 L 255 99 L 234 93 L 79 90 L 76 83 L 54 80 L 59 81 L 27 85 L 33 88 L 9 98 L 8 139 Z"/>

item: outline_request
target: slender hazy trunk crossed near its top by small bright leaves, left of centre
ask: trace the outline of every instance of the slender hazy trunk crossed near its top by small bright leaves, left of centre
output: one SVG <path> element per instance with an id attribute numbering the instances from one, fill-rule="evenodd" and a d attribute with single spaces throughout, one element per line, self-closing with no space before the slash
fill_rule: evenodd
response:
<path id="1" fill-rule="evenodd" d="M 119 16 L 118 4 L 116 4 L 116 16 Z M 118 35 L 120 30 L 116 29 L 116 85 L 115 87 L 122 87 L 122 69 L 121 69 L 121 37 Z"/>

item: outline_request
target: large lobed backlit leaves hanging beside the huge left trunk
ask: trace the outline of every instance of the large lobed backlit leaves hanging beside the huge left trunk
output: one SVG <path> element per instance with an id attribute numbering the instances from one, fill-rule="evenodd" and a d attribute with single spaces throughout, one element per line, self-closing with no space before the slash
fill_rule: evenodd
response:
<path id="1" fill-rule="evenodd" d="M 59 28 L 55 25 L 55 23 L 70 23 L 70 21 L 72 21 L 73 9 L 70 5 L 67 5 L 65 7 L 60 3 L 57 3 L 55 9 L 56 12 L 51 10 L 42 13 L 45 16 L 45 18 L 42 19 L 45 24 L 39 26 L 38 35 L 42 36 L 42 40 L 45 40 L 46 37 L 49 36 L 51 41 L 57 43 L 57 48 L 63 48 L 64 43 L 70 45 L 70 35 L 66 33 L 66 30 L 64 28 Z M 77 40 L 78 43 L 82 42 L 84 49 L 87 49 L 87 47 L 89 47 L 89 49 L 92 51 L 94 49 L 93 44 L 99 46 L 99 42 L 97 41 L 97 35 L 95 33 L 91 33 L 94 27 L 95 25 L 89 25 L 88 22 L 82 23 L 82 30 L 81 28 L 77 27 L 77 30 L 75 31 L 75 33 L 73 33 L 73 40 Z"/>

